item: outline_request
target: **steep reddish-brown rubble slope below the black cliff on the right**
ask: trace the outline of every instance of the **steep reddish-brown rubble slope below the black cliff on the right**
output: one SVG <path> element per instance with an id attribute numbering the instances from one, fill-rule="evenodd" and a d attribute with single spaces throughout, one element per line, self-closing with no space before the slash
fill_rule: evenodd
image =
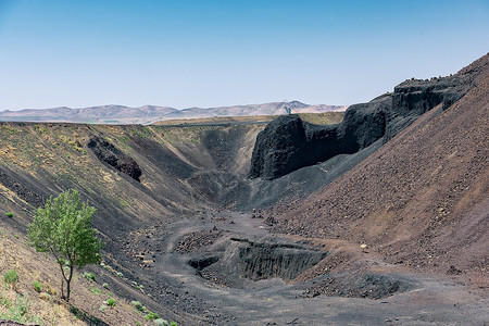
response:
<path id="1" fill-rule="evenodd" d="M 488 62 L 456 75 L 474 87 L 453 105 L 439 102 L 315 196 L 268 211 L 276 229 L 366 243 L 391 263 L 487 287 Z"/>

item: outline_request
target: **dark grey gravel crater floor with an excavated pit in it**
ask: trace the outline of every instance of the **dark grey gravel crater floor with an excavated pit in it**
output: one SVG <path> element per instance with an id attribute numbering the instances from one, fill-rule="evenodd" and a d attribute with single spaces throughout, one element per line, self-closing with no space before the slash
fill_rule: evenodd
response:
<path id="1" fill-rule="evenodd" d="M 125 250 L 140 265 L 138 278 L 148 292 L 198 316 L 196 325 L 485 325 L 488 319 L 477 289 L 406 273 L 350 243 L 273 234 L 264 222 L 251 214 L 200 212 L 138 233 Z M 355 263 L 331 274 L 311 273 L 338 251 L 358 251 Z"/>

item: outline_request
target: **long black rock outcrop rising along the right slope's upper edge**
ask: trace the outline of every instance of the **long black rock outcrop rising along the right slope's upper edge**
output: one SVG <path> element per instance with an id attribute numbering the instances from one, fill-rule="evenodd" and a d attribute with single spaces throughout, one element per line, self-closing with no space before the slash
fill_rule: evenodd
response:
<path id="1" fill-rule="evenodd" d="M 351 105 L 338 125 L 316 126 L 298 115 L 280 116 L 258 135 L 249 177 L 275 179 L 338 154 L 355 153 L 381 138 L 386 142 L 423 113 L 439 104 L 447 110 L 467 93 L 485 70 L 475 66 L 453 76 L 405 80 L 393 93 Z"/>

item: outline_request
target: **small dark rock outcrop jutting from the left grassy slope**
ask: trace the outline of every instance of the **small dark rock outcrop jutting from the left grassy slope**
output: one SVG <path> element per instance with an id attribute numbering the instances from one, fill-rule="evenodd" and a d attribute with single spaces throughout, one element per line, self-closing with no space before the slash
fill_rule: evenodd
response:
<path id="1" fill-rule="evenodd" d="M 112 143 L 103 138 L 93 136 L 90 138 L 87 146 L 100 161 L 109 164 L 117 171 L 121 171 L 125 175 L 128 175 L 136 181 L 140 181 L 139 177 L 141 176 L 141 168 L 138 163 L 136 163 L 136 161 L 134 161 L 130 156 L 124 154 Z"/>

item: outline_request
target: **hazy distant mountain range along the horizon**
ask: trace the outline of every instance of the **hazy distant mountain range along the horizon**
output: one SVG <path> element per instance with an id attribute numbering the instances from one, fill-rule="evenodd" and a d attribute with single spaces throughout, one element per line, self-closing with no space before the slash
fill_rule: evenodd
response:
<path id="1" fill-rule="evenodd" d="M 100 105 L 84 109 L 66 106 L 53 109 L 26 109 L 21 111 L 1 111 L 0 121 L 4 122 L 71 122 L 92 124 L 151 124 L 174 118 L 200 118 L 217 116 L 250 116 L 286 114 L 286 105 L 292 113 L 322 113 L 344 111 L 348 106 L 304 104 L 299 101 L 272 102 L 221 108 L 189 108 L 178 110 L 168 106 L 145 105 L 128 108 L 124 105 Z"/>

